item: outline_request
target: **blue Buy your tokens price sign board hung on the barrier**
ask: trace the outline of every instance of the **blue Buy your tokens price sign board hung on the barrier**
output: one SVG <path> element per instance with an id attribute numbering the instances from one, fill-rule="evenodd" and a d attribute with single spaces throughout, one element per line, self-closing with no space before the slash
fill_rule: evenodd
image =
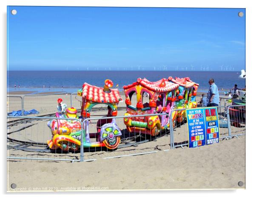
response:
<path id="1" fill-rule="evenodd" d="M 217 107 L 187 109 L 188 147 L 219 142 Z"/>

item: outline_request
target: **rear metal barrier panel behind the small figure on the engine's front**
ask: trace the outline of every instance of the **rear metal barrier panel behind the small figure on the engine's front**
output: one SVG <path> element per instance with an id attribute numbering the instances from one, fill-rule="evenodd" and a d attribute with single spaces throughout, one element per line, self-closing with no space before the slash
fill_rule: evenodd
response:
<path id="1" fill-rule="evenodd" d="M 44 95 L 25 95 L 23 96 L 24 109 L 35 109 L 39 112 L 37 116 L 55 113 L 57 110 L 57 99 L 62 98 L 63 103 L 71 106 L 71 93 L 54 93 Z"/>

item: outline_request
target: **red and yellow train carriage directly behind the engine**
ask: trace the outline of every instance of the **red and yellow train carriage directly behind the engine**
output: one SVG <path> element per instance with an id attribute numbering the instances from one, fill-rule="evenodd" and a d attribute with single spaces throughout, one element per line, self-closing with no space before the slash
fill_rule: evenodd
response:
<path id="1" fill-rule="evenodd" d="M 138 78 L 137 82 L 123 87 L 127 111 L 125 116 L 156 113 L 167 113 L 170 116 L 176 101 L 178 87 L 178 84 L 169 82 L 165 78 L 157 82 Z M 176 112 L 172 115 L 173 120 L 176 118 L 175 114 Z M 124 123 L 130 133 L 145 133 L 151 136 L 157 135 L 160 130 L 170 126 L 170 120 L 165 114 L 161 116 L 126 117 Z"/>

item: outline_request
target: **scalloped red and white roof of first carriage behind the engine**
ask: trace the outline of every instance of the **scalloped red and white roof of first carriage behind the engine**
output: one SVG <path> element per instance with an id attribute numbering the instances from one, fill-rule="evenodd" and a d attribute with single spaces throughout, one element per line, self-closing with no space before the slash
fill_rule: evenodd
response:
<path id="1" fill-rule="evenodd" d="M 145 87 L 145 88 L 147 88 L 151 91 L 154 91 L 154 92 L 173 91 L 173 90 L 175 90 L 176 88 L 179 87 L 178 84 L 173 83 L 173 82 L 169 82 L 165 78 L 163 78 L 159 81 L 156 81 L 156 82 L 151 82 L 151 81 L 149 81 L 148 79 L 145 79 L 145 78 L 144 79 L 138 78 L 137 82 L 134 82 L 131 85 L 123 86 L 123 88 L 128 89 L 128 88 L 134 87 L 136 85 L 141 85 L 142 87 Z"/>

